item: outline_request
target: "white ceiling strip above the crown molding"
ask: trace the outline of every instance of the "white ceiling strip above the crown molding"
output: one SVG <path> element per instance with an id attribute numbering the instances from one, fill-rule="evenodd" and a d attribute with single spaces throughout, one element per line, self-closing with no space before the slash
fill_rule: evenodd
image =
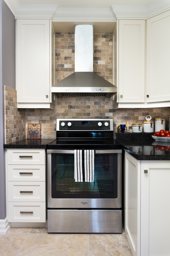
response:
<path id="1" fill-rule="evenodd" d="M 113 5 L 147 5 L 155 0 L 18 0 L 19 4 L 58 4 L 58 8 L 110 8 Z M 157 0 L 161 1 L 161 0 Z"/>

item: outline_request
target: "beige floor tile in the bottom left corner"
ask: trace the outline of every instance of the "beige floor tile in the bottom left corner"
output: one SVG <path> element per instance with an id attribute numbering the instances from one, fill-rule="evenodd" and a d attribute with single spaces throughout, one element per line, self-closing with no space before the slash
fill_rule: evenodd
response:
<path id="1" fill-rule="evenodd" d="M 27 234 L 0 235 L 0 256 L 16 256 Z"/>

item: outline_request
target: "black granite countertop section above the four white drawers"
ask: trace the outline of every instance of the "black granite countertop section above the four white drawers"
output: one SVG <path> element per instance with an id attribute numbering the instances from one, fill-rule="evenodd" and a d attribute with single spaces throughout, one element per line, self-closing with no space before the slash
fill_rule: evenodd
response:
<path id="1" fill-rule="evenodd" d="M 4 148 L 46 148 L 53 140 L 55 139 L 18 140 L 9 144 L 4 144 Z"/>

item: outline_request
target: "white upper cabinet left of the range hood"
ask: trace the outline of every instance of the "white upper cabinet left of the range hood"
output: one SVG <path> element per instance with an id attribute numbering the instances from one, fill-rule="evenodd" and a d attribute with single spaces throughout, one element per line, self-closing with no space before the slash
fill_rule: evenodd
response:
<path id="1" fill-rule="evenodd" d="M 52 108 L 51 20 L 19 19 L 16 22 L 18 107 Z"/>

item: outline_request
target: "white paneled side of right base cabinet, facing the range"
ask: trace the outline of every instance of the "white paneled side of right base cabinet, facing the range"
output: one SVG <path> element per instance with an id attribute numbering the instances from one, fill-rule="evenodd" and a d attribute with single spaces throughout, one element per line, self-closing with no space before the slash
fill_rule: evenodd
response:
<path id="1" fill-rule="evenodd" d="M 141 161 L 125 152 L 125 232 L 133 256 L 140 255 Z"/>

